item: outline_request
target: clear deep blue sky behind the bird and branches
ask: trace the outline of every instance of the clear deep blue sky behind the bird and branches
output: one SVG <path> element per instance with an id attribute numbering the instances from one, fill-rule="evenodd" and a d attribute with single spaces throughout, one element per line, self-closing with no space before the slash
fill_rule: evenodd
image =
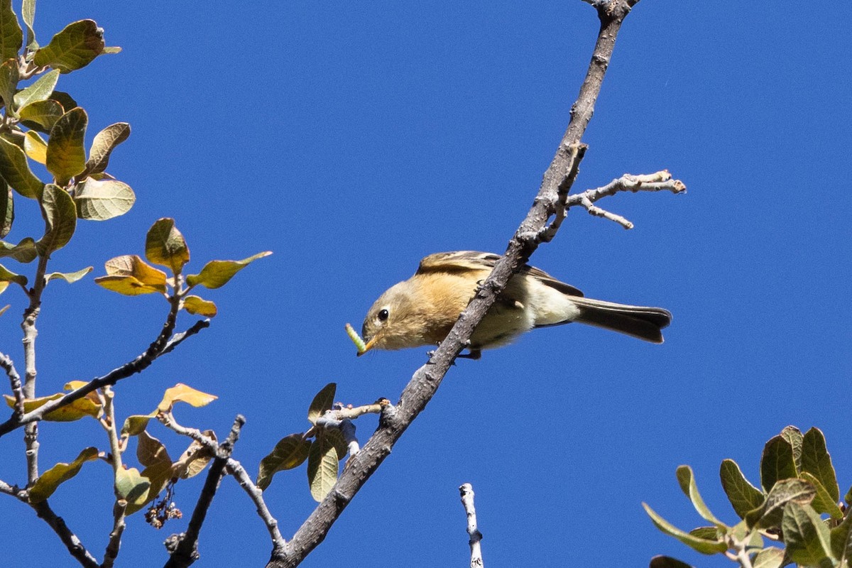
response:
<path id="1" fill-rule="evenodd" d="M 533 263 L 591 297 L 666 307 L 655 346 L 569 325 L 460 361 L 427 410 L 304 565 L 463 566 L 458 485 L 476 491 L 489 566 L 642 566 L 707 559 L 653 528 L 646 501 L 684 528 L 701 522 L 675 479 L 694 467 L 706 501 L 735 515 L 723 458 L 757 483 L 764 442 L 787 424 L 824 430 L 841 491 L 852 483 L 847 3 L 642 0 L 619 36 L 584 139 L 577 189 L 670 169 L 688 194 L 603 205 L 627 232 L 574 211 Z M 20 5 L 16 2 L 15 5 Z M 826 7 L 830 7 L 826 8 Z M 596 37 L 594 10 L 559 2 L 39 3 L 42 43 L 92 18 L 124 48 L 60 79 L 87 108 L 89 138 L 131 123 L 110 171 L 138 202 L 81 222 L 38 320 L 39 391 L 132 359 L 157 335 L 158 297 L 127 298 L 92 277 L 141 254 L 147 228 L 176 218 L 190 269 L 274 255 L 205 295 L 209 330 L 120 383 L 118 413 L 153 409 L 186 382 L 220 398 L 182 407 L 222 436 L 247 418 L 236 457 L 256 466 L 308 427 L 320 387 L 337 399 L 396 400 L 425 349 L 356 359 L 360 321 L 423 255 L 502 252 L 566 127 Z M 10 238 L 35 227 L 21 200 Z M 29 225 L 27 224 L 29 223 Z M 14 263 L 9 267 L 17 268 Z M 22 367 L 20 292 L 0 350 Z M 183 316 L 181 328 L 192 324 Z M 21 368 L 22 370 L 22 368 Z M 357 422 L 362 441 L 375 417 Z M 173 457 L 185 441 L 153 425 Z M 107 448 L 95 422 L 43 424 L 41 462 Z M 0 479 L 23 483 L 20 431 L 0 440 Z M 61 486 L 55 510 L 99 558 L 112 523 L 103 462 Z M 202 478 L 177 485 L 188 519 Z M 285 536 L 314 508 L 304 468 L 266 491 Z M 0 499 L 4 565 L 75 565 L 32 511 Z M 118 565 L 162 565 L 162 531 L 130 519 Z M 263 565 L 268 535 L 233 479 L 216 496 L 199 567 Z"/>

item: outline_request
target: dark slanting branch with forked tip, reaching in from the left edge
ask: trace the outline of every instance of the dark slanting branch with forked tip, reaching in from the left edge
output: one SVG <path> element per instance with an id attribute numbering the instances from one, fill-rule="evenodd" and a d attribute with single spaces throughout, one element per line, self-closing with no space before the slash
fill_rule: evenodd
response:
<path id="1" fill-rule="evenodd" d="M 195 324 L 193 324 L 193 326 L 188 330 L 172 336 L 172 333 L 175 331 L 177 313 L 180 308 L 179 300 L 180 299 L 177 298 L 176 300 L 171 301 L 171 309 L 168 318 L 166 318 L 166 321 L 163 324 L 163 330 L 160 332 L 157 339 L 148 346 L 144 353 L 117 369 L 111 370 L 106 375 L 92 379 L 83 385 L 83 387 L 79 387 L 70 393 L 67 393 L 61 399 L 51 400 L 49 403 L 39 406 L 36 410 L 27 412 L 23 416 L 15 416 L 13 414 L 9 420 L 0 423 L 0 436 L 12 432 L 24 424 L 42 420 L 44 416 L 48 415 L 50 412 L 53 412 L 66 404 L 71 404 L 75 400 L 82 399 L 87 394 L 93 393 L 101 387 L 112 386 L 122 379 L 126 379 L 129 376 L 133 376 L 136 373 L 146 370 L 147 367 L 150 366 L 160 355 L 170 353 L 172 349 L 180 345 L 182 341 L 187 339 L 187 337 L 194 336 L 200 330 L 210 327 L 210 319 L 202 319 L 195 322 Z"/>

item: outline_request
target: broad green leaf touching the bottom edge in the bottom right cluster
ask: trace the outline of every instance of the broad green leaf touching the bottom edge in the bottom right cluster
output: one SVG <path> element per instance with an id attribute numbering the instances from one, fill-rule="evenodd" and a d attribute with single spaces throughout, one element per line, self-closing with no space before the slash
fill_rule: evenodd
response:
<path id="1" fill-rule="evenodd" d="M 831 535 L 820 515 L 808 505 L 789 502 L 781 521 L 787 556 L 799 565 L 821 565 L 832 554 Z"/>

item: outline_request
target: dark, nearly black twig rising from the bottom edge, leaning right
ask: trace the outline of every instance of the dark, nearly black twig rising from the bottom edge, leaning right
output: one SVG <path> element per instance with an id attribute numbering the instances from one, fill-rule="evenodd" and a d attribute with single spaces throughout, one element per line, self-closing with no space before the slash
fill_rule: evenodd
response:
<path id="1" fill-rule="evenodd" d="M 204 518 L 207 516 L 207 510 L 213 502 L 213 496 L 216 495 L 216 490 L 219 488 L 219 482 L 222 481 L 222 476 L 225 475 L 225 466 L 227 460 L 233 452 L 233 445 L 239 439 L 239 430 L 245 424 L 245 418 L 237 415 L 231 427 L 231 433 L 227 435 L 222 444 L 219 445 L 219 450 L 216 451 L 216 457 L 213 463 L 210 464 L 210 469 L 207 472 L 207 479 L 204 480 L 204 487 L 199 495 L 199 501 L 195 504 L 193 516 L 189 519 L 187 532 L 181 536 L 170 539 L 175 542 L 173 549 L 170 549 L 169 561 L 165 563 L 165 568 L 185 568 L 192 565 L 195 560 L 199 559 L 198 542 L 201 525 L 204 524 Z M 171 546 L 169 548 L 172 548 Z"/>

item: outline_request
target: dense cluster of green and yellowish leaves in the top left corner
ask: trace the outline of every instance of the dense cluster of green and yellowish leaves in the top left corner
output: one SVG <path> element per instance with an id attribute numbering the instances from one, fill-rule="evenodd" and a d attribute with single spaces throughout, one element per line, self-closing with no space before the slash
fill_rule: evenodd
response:
<path id="1" fill-rule="evenodd" d="M 112 151 L 127 140 L 130 125 L 107 126 L 87 153 L 89 116 L 71 95 L 56 89 L 61 74 L 120 49 L 106 46 L 103 30 L 93 20 L 72 22 L 40 46 L 32 29 L 35 0 L 24 0 L 21 12 L 23 27 L 11 0 L 0 0 L 0 258 L 26 264 L 66 246 L 78 219 L 106 221 L 124 215 L 135 203 L 135 193 L 107 173 Z M 43 165 L 49 180 L 39 178 L 31 163 Z M 2 239 L 14 225 L 16 195 L 38 204 L 44 232 L 11 243 Z M 43 287 L 55 278 L 74 282 L 90 270 L 39 274 L 44 281 L 35 285 Z M 28 278 L 0 266 L 0 293 L 9 284 L 26 291 Z"/>

